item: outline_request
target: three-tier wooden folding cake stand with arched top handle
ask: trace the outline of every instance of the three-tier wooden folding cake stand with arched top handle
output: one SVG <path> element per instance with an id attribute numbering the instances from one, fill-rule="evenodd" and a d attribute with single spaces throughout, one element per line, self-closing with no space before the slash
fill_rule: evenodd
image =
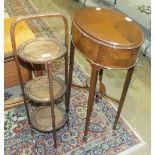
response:
<path id="1" fill-rule="evenodd" d="M 35 38 L 27 40 L 22 43 L 19 48 L 16 48 L 15 28 L 16 25 L 25 20 L 34 20 L 47 17 L 60 18 L 64 22 L 65 30 L 65 43 L 59 41 L 57 38 Z M 15 56 L 16 67 L 18 71 L 18 78 L 24 98 L 24 105 L 31 127 L 41 132 L 53 132 L 54 147 L 56 143 L 56 130 L 60 129 L 68 122 L 69 107 L 67 105 L 67 85 L 68 85 L 68 40 L 69 40 L 68 22 L 63 14 L 43 14 L 43 15 L 30 15 L 20 17 L 15 20 L 11 26 L 11 42 L 12 49 Z M 54 75 L 53 62 L 56 60 L 65 59 L 65 75 L 62 80 Z M 20 69 L 20 60 L 27 62 L 31 65 L 46 65 L 48 73 L 42 76 L 37 76 L 31 79 L 24 85 L 23 77 Z M 65 94 L 66 112 L 56 105 L 56 100 Z M 27 99 L 37 104 L 42 104 L 35 111 L 29 115 L 27 106 Z"/>

